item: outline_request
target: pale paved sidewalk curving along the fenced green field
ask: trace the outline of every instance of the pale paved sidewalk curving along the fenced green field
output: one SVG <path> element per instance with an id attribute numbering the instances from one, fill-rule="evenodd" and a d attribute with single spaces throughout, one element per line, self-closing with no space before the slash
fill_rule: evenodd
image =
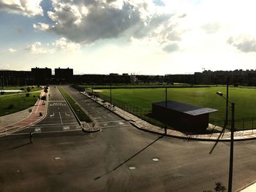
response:
<path id="1" fill-rule="evenodd" d="M 82 93 L 82 92 L 81 92 Z M 86 93 L 83 93 L 83 95 L 89 97 Z M 94 100 L 94 99 L 92 99 Z M 109 103 L 105 102 L 105 104 L 102 104 L 102 99 L 97 98 L 97 100 L 94 100 L 98 104 L 101 104 L 102 106 L 108 108 Z M 109 109 L 109 108 L 108 108 Z M 120 116 L 121 118 L 124 118 L 125 120 L 129 121 L 133 126 L 148 131 L 151 133 L 157 133 L 157 134 L 165 134 L 165 129 L 160 128 L 158 126 L 151 125 L 150 123 L 146 122 L 145 120 L 142 120 L 138 118 L 135 115 L 132 115 L 129 112 L 126 112 L 122 110 L 119 107 L 115 106 L 115 109 L 109 109 L 112 112 L 116 113 L 116 115 Z M 208 129 L 212 129 L 214 125 L 209 124 Z M 214 127 L 215 129 L 222 130 L 221 127 Z M 180 131 L 176 131 L 173 129 L 167 128 L 167 136 L 170 137 L 176 137 L 181 139 L 194 139 L 194 140 L 203 140 L 203 141 L 229 141 L 230 140 L 230 132 L 225 131 L 225 133 L 212 133 L 212 134 L 184 134 Z M 245 140 L 245 139 L 256 139 L 256 130 L 248 130 L 248 131 L 236 131 L 234 133 L 234 140 Z"/>

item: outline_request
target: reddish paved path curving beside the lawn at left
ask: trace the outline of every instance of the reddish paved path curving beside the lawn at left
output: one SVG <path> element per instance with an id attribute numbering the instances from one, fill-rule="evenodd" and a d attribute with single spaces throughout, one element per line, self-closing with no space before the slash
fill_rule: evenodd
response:
<path id="1" fill-rule="evenodd" d="M 40 97 L 44 95 L 45 95 L 45 92 L 42 91 L 40 94 Z M 7 126 L 0 127 L 0 136 L 5 134 L 10 134 L 14 131 L 18 131 L 21 128 L 26 128 L 28 126 L 33 125 L 34 123 L 37 123 L 39 120 L 42 120 L 42 118 L 44 118 L 46 114 L 47 104 L 48 104 L 47 100 L 42 101 L 38 99 L 36 104 L 34 104 L 34 107 L 27 109 L 27 114 L 29 114 L 29 116 L 26 116 L 26 118 L 23 118 L 21 120 L 18 119 L 19 121 L 16 123 L 11 123 Z M 39 115 L 40 112 L 42 113 L 42 116 Z M 15 114 L 16 113 L 12 114 L 10 117 L 14 118 Z M 18 116 L 19 116 L 19 112 L 18 112 Z M 7 115 L 4 118 L 8 118 L 8 117 L 9 115 Z"/>

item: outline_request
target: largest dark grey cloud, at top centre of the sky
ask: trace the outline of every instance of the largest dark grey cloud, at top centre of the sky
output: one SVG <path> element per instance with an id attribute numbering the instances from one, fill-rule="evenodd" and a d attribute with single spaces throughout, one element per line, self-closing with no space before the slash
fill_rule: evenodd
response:
<path id="1" fill-rule="evenodd" d="M 173 15 L 163 13 L 152 0 L 52 0 L 52 5 L 48 17 L 56 24 L 49 28 L 34 24 L 34 28 L 53 31 L 72 42 L 91 44 L 120 37 L 152 39 L 154 35 L 160 42 L 181 38 L 173 29 Z"/>

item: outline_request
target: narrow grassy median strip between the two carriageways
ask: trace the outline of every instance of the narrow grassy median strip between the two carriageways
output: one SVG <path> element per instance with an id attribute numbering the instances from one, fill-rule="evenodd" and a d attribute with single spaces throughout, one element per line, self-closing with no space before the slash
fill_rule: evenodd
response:
<path id="1" fill-rule="evenodd" d="M 86 115 L 85 112 L 75 103 L 75 101 L 69 96 L 69 94 L 64 91 L 63 88 L 58 87 L 59 91 L 64 95 L 64 97 L 69 101 L 69 104 L 71 105 L 72 109 L 75 111 L 75 114 L 78 116 L 78 119 L 80 121 L 86 121 L 91 122 L 90 118 Z"/>

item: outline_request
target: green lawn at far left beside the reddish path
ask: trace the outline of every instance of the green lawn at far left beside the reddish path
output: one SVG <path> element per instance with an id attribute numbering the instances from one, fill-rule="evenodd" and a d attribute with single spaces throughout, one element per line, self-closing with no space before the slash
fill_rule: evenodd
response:
<path id="1" fill-rule="evenodd" d="M 26 97 L 26 93 L 8 94 L 6 96 L 0 96 L 0 116 L 8 115 L 13 112 L 25 110 L 26 108 L 34 105 L 38 99 L 40 93 L 29 93 L 29 97 Z"/>

